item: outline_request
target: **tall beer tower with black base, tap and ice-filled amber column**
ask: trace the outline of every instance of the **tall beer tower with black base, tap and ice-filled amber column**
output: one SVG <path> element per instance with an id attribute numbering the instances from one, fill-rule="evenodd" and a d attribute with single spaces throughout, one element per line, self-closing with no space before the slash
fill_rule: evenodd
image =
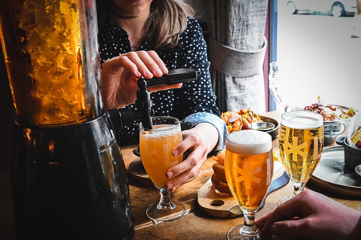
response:
<path id="1" fill-rule="evenodd" d="M 16 110 L 11 188 L 17 239 L 132 239 L 115 130 L 140 119 L 148 126 L 149 82 L 170 85 L 195 80 L 197 73 L 177 69 L 154 81 L 142 78 L 137 112 L 105 111 L 93 0 L 5 0 L 0 40 Z"/>

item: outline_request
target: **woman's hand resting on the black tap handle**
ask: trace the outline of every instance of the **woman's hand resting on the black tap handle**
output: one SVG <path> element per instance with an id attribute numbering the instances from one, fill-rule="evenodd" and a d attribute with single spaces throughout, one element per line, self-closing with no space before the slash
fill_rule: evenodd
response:
<path id="1" fill-rule="evenodd" d="M 105 109 L 123 108 L 136 100 L 140 77 L 150 79 L 168 73 L 164 62 L 155 51 L 138 51 L 121 54 L 106 60 L 101 69 Z M 150 92 L 180 88 L 182 83 L 149 87 Z"/>

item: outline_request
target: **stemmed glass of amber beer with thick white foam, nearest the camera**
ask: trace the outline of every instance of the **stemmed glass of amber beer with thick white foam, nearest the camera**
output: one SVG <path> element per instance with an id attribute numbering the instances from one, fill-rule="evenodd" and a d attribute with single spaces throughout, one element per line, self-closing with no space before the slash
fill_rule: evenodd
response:
<path id="1" fill-rule="evenodd" d="M 271 135 L 257 130 L 236 131 L 227 135 L 225 172 L 232 195 L 244 216 L 244 224 L 231 228 L 227 239 L 259 239 L 255 214 L 272 181 Z"/>

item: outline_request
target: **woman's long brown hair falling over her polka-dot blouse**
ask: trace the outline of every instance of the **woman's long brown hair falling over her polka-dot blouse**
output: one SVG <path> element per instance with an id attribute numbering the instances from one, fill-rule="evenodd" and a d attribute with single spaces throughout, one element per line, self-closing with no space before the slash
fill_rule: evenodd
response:
<path id="1" fill-rule="evenodd" d="M 105 16 L 110 15 L 121 18 L 114 13 L 112 0 L 97 0 L 98 25 L 101 26 Z M 144 24 L 144 36 L 142 40 L 153 38 L 155 49 L 160 47 L 178 47 L 179 36 L 187 28 L 187 17 L 194 16 L 191 6 L 176 0 L 153 0 L 151 12 Z"/>

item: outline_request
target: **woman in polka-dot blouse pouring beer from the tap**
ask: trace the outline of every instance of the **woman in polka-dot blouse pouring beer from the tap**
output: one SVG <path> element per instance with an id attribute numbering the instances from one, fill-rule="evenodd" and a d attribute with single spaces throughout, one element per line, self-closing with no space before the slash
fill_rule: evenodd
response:
<path id="1" fill-rule="evenodd" d="M 135 110 L 136 80 L 142 76 L 161 77 L 178 68 L 201 71 L 196 81 L 149 88 L 155 116 L 181 120 L 183 141 L 172 154 L 189 153 L 166 172 L 165 187 L 173 192 L 196 176 L 208 153 L 225 146 L 227 128 L 212 92 L 201 28 L 192 9 L 174 0 L 99 1 L 97 9 L 106 109 Z M 118 134 L 121 145 L 139 142 L 139 123 Z"/>

